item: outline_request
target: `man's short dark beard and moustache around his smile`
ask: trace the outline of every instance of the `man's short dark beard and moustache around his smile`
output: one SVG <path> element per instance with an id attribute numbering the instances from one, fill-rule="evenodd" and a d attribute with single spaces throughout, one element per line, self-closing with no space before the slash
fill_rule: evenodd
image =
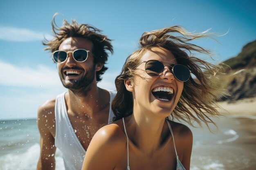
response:
<path id="1" fill-rule="evenodd" d="M 62 69 L 77 69 L 81 70 L 79 67 L 71 67 L 71 68 L 62 68 Z M 65 82 L 65 79 L 63 79 L 62 73 L 59 73 L 61 82 L 65 88 L 70 89 L 75 95 L 78 95 L 80 97 L 85 97 L 88 95 L 88 92 L 91 90 L 90 84 L 93 82 L 94 77 L 95 77 L 95 64 L 91 68 L 88 68 L 86 70 L 85 76 L 83 76 L 81 79 L 78 80 L 73 80 L 70 79 L 69 82 Z"/>

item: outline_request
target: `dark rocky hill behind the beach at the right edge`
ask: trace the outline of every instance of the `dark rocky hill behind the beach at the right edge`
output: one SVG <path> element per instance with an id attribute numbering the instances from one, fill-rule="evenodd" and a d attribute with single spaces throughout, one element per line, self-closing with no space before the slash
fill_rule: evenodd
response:
<path id="1" fill-rule="evenodd" d="M 242 51 L 233 58 L 224 61 L 229 74 L 245 69 L 241 73 L 231 76 L 218 76 L 218 85 L 227 89 L 230 94 L 222 100 L 235 101 L 247 97 L 256 97 L 256 40 L 246 44 Z"/>

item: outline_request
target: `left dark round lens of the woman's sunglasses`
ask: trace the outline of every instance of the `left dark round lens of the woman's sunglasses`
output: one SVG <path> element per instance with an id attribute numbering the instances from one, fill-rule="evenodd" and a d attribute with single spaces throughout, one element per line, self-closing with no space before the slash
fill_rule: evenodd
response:
<path id="1" fill-rule="evenodd" d="M 149 60 L 146 62 L 145 71 L 148 75 L 156 77 L 161 74 L 164 70 L 164 64 L 157 60 Z"/>

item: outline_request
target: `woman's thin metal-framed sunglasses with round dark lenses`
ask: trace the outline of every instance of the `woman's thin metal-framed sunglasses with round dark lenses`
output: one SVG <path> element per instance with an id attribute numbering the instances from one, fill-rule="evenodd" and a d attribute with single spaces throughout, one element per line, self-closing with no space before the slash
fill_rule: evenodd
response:
<path id="1" fill-rule="evenodd" d="M 182 64 L 173 64 L 171 62 L 165 62 L 165 63 L 170 63 L 171 65 L 170 64 L 164 65 L 163 63 L 164 61 L 158 61 L 158 60 L 143 61 L 140 64 L 144 62 L 146 63 L 145 71 L 151 77 L 157 77 L 161 75 L 164 72 L 164 66 L 171 66 L 172 69 L 169 71 L 171 71 L 179 81 L 186 82 L 189 80 L 191 71 L 189 70 L 189 68 L 187 68 Z"/>

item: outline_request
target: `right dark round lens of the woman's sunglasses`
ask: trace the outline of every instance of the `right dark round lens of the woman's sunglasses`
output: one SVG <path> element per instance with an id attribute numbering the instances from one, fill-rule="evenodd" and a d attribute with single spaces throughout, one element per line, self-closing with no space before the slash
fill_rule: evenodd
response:
<path id="1" fill-rule="evenodd" d="M 181 64 L 176 64 L 173 66 L 173 74 L 181 82 L 188 81 L 190 77 L 189 68 Z"/>

